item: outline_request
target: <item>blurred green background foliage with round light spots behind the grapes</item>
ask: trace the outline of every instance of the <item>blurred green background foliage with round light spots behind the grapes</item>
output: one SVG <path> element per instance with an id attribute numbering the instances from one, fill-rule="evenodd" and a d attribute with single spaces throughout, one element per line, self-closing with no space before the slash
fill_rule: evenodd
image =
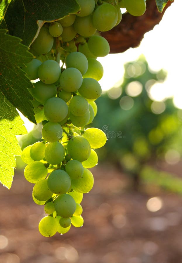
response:
<path id="1" fill-rule="evenodd" d="M 89 125 L 102 129 L 108 138 L 105 146 L 96 150 L 99 162 L 125 172 L 135 190 L 144 182 L 182 193 L 182 179 L 160 169 L 160 162 L 177 164 L 182 153 L 182 110 L 174 106 L 172 98 L 156 101 L 152 97 L 157 92 L 160 98 L 157 85 L 163 84 L 165 92 L 167 72 L 150 70 L 144 56 L 124 68 L 122 84 L 97 99 L 98 113 Z M 19 137 L 22 149 L 38 140 L 39 124 Z M 20 158 L 17 162 L 19 169 L 25 167 Z"/>

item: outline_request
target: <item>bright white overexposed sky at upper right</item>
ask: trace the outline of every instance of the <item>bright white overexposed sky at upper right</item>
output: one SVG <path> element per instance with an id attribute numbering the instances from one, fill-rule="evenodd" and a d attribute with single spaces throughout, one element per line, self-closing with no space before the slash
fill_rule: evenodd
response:
<path id="1" fill-rule="evenodd" d="M 164 97 L 174 96 L 175 104 L 182 108 L 181 10 L 182 1 L 175 0 L 164 13 L 160 24 L 145 34 L 138 48 L 131 48 L 124 53 L 109 54 L 104 58 L 98 58 L 104 67 L 104 76 L 100 80 L 103 90 L 115 86 L 115 83 L 122 78 L 124 73 L 123 65 L 127 61 L 136 60 L 143 53 L 152 70 L 164 68 L 168 71 L 167 80 L 163 84 L 163 88 L 160 89 L 162 94 L 158 90 L 159 96 L 156 96 L 155 99 L 161 100 Z"/>

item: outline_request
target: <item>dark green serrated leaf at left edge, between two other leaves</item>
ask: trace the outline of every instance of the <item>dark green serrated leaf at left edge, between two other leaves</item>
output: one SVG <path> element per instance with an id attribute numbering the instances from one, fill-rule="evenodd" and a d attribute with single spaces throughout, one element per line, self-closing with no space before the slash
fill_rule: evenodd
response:
<path id="1" fill-rule="evenodd" d="M 28 47 L 20 44 L 21 39 L 6 34 L 0 29 L 0 90 L 6 98 L 22 112 L 30 121 L 36 123 L 32 103 L 32 95 L 27 88 L 33 85 L 20 67 L 32 60 L 33 55 Z"/>

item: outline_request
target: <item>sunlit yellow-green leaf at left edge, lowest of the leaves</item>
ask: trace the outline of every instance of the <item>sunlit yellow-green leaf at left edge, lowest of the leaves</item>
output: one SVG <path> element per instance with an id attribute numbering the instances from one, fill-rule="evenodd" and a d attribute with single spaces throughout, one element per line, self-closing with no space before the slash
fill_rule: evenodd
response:
<path id="1" fill-rule="evenodd" d="M 21 155 L 21 148 L 15 135 L 27 133 L 15 107 L 0 92 L 0 182 L 11 188 L 15 155 Z"/>

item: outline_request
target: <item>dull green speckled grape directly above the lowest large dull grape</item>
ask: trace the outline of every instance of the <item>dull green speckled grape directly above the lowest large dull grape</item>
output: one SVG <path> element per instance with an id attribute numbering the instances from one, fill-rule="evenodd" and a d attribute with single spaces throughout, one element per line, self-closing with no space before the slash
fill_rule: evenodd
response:
<path id="1" fill-rule="evenodd" d="M 48 188 L 51 192 L 61 195 L 68 192 L 71 186 L 71 179 L 67 172 L 63 170 L 54 170 L 47 179 Z"/>

